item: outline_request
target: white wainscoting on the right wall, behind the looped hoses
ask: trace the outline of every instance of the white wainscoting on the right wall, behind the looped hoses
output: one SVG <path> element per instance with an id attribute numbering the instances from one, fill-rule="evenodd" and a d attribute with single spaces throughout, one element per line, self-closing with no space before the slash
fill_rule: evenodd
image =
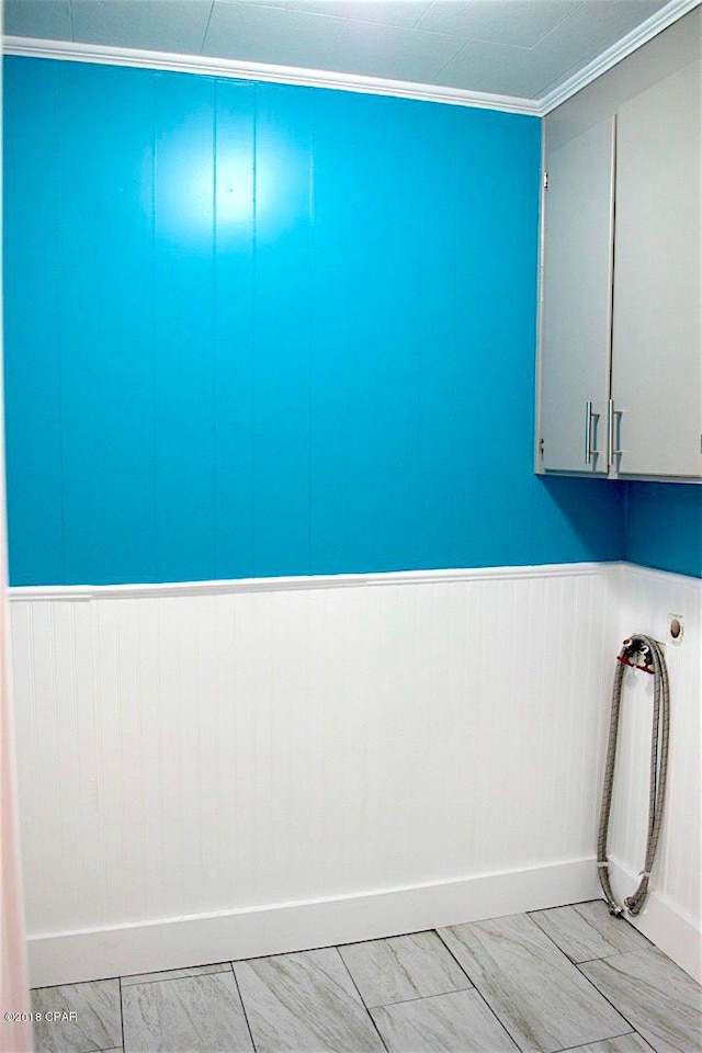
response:
<path id="1" fill-rule="evenodd" d="M 642 632 L 665 643 L 668 614 L 684 621 L 680 645 L 665 647 L 670 678 L 666 806 L 652 891 L 632 920 L 702 983 L 702 581 L 630 564 L 618 573 L 622 639 Z M 609 845 L 620 902 L 637 887 L 644 868 L 652 711 L 653 678 L 627 672 Z"/>

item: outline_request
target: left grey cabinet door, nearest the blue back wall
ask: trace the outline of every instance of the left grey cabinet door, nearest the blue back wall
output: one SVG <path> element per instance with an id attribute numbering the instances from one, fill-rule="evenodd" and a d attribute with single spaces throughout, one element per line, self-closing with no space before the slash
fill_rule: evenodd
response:
<path id="1" fill-rule="evenodd" d="M 608 471 L 613 158 L 610 117 L 546 159 L 540 428 L 545 471 Z"/>

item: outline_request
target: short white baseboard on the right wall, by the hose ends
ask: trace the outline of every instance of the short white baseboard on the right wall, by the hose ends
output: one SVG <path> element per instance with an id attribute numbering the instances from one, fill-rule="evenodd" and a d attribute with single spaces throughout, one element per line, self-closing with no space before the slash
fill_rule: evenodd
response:
<path id="1" fill-rule="evenodd" d="M 620 903 L 624 896 L 632 894 L 639 881 L 632 870 L 622 867 L 621 862 L 611 857 L 610 878 L 612 890 Z M 626 920 L 702 984 L 702 932 L 692 918 L 686 917 L 679 908 L 652 888 L 638 917 L 626 915 Z"/>

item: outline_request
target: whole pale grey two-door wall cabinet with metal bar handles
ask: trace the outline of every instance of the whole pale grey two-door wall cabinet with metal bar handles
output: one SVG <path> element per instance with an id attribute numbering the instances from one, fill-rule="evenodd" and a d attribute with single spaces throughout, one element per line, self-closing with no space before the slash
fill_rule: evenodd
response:
<path id="1" fill-rule="evenodd" d="M 700 68 L 546 155 L 540 471 L 702 478 Z"/>

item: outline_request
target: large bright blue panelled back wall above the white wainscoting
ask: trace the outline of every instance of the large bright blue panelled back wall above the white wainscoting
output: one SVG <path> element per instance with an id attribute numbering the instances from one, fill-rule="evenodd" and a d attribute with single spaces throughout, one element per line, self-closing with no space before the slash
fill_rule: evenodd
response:
<path id="1" fill-rule="evenodd" d="M 620 558 L 532 473 L 532 117 L 8 58 L 14 585 Z"/>

